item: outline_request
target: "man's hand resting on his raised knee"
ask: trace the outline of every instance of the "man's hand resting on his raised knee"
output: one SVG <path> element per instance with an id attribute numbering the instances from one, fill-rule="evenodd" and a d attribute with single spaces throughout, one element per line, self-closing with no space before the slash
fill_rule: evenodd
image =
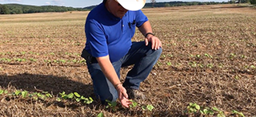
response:
<path id="1" fill-rule="evenodd" d="M 149 45 L 149 42 L 152 44 L 152 49 L 157 50 L 162 47 L 162 42 L 158 39 L 158 37 L 155 37 L 154 35 L 148 35 L 145 38 L 145 44 L 146 46 Z"/>

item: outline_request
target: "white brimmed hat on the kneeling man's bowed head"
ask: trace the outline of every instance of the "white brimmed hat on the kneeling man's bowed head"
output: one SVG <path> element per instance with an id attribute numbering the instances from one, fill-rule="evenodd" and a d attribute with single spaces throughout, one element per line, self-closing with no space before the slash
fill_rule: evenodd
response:
<path id="1" fill-rule="evenodd" d="M 146 0 L 116 0 L 126 10 L 141 10 Z"/>

